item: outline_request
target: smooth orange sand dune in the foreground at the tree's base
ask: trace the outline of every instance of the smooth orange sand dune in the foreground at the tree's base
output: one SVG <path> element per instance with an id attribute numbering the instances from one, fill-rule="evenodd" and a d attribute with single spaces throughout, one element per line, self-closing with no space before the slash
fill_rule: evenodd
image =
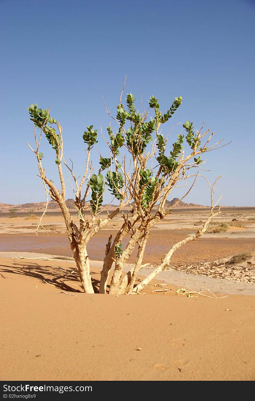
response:
<path id="1" fill-rule="evenodd" d="M 1 380 L 255 379 L 254 296 L 89 295 L 72 271 L 0 258 Z"/>

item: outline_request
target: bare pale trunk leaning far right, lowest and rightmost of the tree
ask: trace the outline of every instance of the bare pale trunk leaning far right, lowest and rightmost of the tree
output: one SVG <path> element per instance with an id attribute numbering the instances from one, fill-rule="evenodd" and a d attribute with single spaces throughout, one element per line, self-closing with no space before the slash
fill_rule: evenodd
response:
<path id="1" fill-rule="evenodd" d="M 219 211 L 218 211 L 218 213 L 219 213 Z M 201 237 L 201 235 L 204 234 L 204 232 L 208 229 L 208 225 L 209 225 L 212 217 L 214 217 L 218 213 L 212 213 L 212 211 L 211 211 L 209 218 L 204 223 L 203 227 L 198 229 L 196 234 L 190 235 L 189 237 L 186 237 L 182 241 L 177 242 L 175 245 L 173 245 L 171 247 L 170 251 L 165 255 L 161 265 L 158 266 L 155 270 L 153 270 L 141 283 L 139 283 L 138 286 L 136 286 L 133 289 L 132 294 L 139 294 L 139 292 L 141 292 L 143 290 L 143 288 L 145 288 L 149 284 L 149 282 L 151 282 L 151 280 L 153 280 L 157 276 L 157 274 L 161 273 L 161 271 L 166 269 L 166 267 L 169 265 L 169 261 L 171 259 L 171 256 L 173 255 L 173 252 L 175 252 L 182 245 L 185 245 L 186 243 L 194 241 L 195 239 L 198 239 L 199 237 Z"/>

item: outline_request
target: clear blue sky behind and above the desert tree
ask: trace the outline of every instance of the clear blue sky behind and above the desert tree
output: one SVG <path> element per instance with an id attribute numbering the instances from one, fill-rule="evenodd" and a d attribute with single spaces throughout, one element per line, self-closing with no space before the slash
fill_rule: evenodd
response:
<path id="1" fill-rule="evenodd" d="M 26 145 L 33 145 L 27 106 L 51 105 L 63 127 L 65 158 L 80 175 L 83 132 L 93 124 L 106 133 L 110 120 L 102 95 L 115 112 L 127 75 L 124 95 L 133 93 L 138 107 L 141 96 L 147 104 L 155 95 L 162 111 L 183 97 L 165 134 L 172 124 L 190 120 L 200 128 L 204 121 L 215 132 L 214 142 L 232 141 L 208 153 L 206 177 L 213 182 L 222 175 L 215 190 L 222 205 L 255 206 L 255 1 L 0 0 L 0 14 L 0 202 L 46 200 L 35 155 Z M 102 153 L 106 149 L 101 138 L 97 146 Z M 50 150 L 43 142 L 47 176 L 57 182 Z M 95 151 L 95 170 L 97 159 Z M 67 188 L 67 198 L 73 197 L 68 183 Z M 185 190 L 175 189 L 169 200 Z M 105 203 L 110 200 L 107 195 Z M 185 201 L 209 204 L 205 180 L 198 179 Z"/>

